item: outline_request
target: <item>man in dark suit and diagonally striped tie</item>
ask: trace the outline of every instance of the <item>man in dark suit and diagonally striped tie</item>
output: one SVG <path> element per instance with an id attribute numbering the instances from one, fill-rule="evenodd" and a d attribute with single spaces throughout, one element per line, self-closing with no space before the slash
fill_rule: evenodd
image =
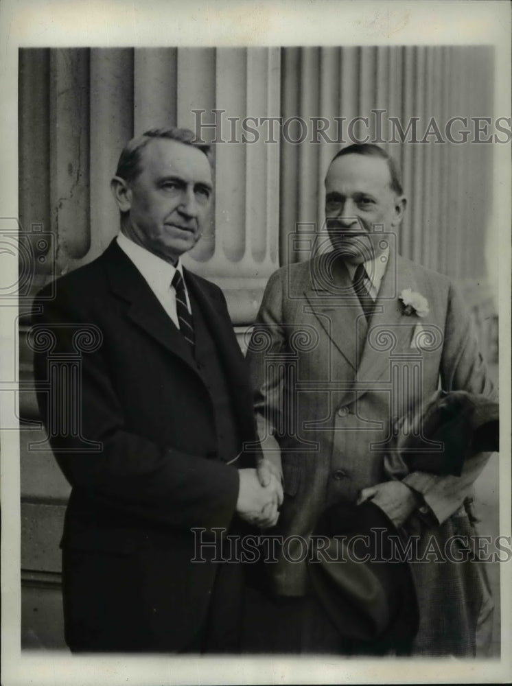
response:
<path id="1" fill-rule="evenodd" d="M 278 517 L 280 484 L 244 451 L 251 390 L 224 296 L 180 261 L 212 193 L 193 138 L 151 130 L 126 145 L 111 184 L 121 233 L 34 305 L 40 412 L 72 486 L 73 651 L 234 652 L 241 568 L 222 564 L 216 528 Z"/>

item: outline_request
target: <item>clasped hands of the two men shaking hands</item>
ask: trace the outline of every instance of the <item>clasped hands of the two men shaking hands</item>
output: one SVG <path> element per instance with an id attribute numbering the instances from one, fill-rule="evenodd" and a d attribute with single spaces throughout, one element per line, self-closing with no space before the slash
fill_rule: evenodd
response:
<path id="1" fill-rule="evenodd" d="M 261 460 L 257 469 L 240 469 L 236 511 L 239 517 L 261 529 L 277 524 L 283 504 L 283 486 L 277 467 Z"/>

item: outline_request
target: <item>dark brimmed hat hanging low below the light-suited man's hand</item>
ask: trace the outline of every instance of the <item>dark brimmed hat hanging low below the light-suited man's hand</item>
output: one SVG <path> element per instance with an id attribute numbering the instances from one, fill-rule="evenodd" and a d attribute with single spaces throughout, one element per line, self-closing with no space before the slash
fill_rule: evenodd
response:
<path id="1" fill-rule="evenodd" d="M 362 652 L 407 654 L 417 634 L 416 591 L 401 542 L 371 501 L 327 508 L 314 531 L 308 565 L 314 593 L 340 635 Z"/>

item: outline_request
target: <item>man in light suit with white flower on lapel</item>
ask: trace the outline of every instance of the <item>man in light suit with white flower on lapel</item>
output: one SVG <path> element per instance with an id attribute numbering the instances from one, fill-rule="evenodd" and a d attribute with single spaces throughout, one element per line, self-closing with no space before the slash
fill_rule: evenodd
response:
<path id="1" fill-rule="evenodd" d="M 393 159 L 376 145 L 351 145 L 331 161 L 325 192 L 333 249 L 272 274 L 248 348 L 259 435 L 283 476 L 275 532 L 293 536 L 267 565 L 273 596 L 262 617 L 275 614 L 268 642 L 286 636 L 281 648 L 292 652 L 347 649 L 312 594 L 303 556 L 325 508 L 372 499 L 405 542 L 419 536 L 421 558 L 429 542 L 442 549 L 449 536 L 474 533 L 472 484 L 489 458 L 468 460 L 460 477 L 393 477 L 388 451 L 410 410 L 439 383 L 486 395 L 492 384 L 450 279 L 397 255 L 406 198 Z M 411 568 L 413 652 L 474 654 L 492 609 L 482 569 Z"/>

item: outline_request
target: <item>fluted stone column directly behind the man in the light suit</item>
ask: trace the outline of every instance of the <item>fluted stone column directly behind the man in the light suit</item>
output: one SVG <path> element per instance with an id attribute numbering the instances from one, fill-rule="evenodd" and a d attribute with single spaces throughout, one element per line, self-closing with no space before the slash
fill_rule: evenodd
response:
<path id="1" fill-rule="evenodd" d="M 287 255 L 290 230 L 323 226 L 329 158 L 342 145 L 369 141 L 402 167 L 409 204 L 400 252 L 452 276 L 483 276 L 492 146 L 452 143 L 445 126 L 459 116 L 472 128 L 471 117 L 489 115 L 491 49 L 283 48 L 282 64 L 283 121 L 302 117 L 310 135 L 282 142 L 281 261 L 307 259 Z M 315 117 L 329 122 L 328 140 L 312 143 Z"/>

